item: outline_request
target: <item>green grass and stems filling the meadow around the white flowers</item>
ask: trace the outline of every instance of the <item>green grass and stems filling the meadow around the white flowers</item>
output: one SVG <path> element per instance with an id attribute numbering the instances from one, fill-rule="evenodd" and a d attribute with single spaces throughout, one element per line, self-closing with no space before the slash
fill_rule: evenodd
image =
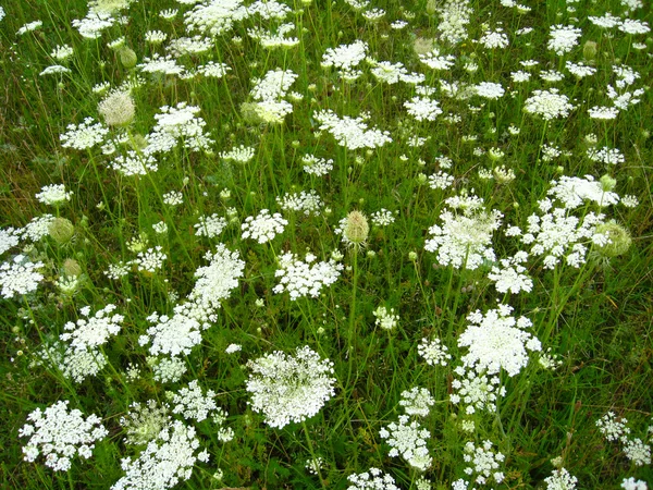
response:
<path id="1" fill-rule="evenodd" d="M 155 52 L 164 53 L 170 39 L 188 35 L 183 12 L 190 5 L 135 1 L 123 11 L 128 22 L 114 24 L 96 40 L 83 38 L 72 26 L 73 20 L 86 15 L 83 1 L 5 2 L 7 16 L 0 21 L 0 226 L 19 229 L 35 217 L 51 213 L 70 220 L 74 235 L 63 244 L 48 234 L 34 243 L 22 240 L 0 257 L 9 264 L 23 254 L 44 264 L 44 279 L 35 292 L 0 298 L 2 488 L 111 488 L 124 474 L 121 460 L 136 457 L 144 450 L 124 439 L 126 428 L 120 420 L 131 404 L 164 403 L 168 392 L 177 392 L 195 379 L 205 391 L 217 393 L 217 405 L 229 413 L 224 427 L 233 429 L 234 439 L 219 441 L 219 427 L 211 419 L 186 421 L 195 427 L 210 460 L 196 462 L 192 477 L 177 488 L 345 489 L 350 475 L 377 467 L 392 475 L 402 489 L 421 490 L 420 477 L 433 489 L 445 489 L 459 478 L 470 481 L 465 474 L 465 444 L 471 441 L 480 446 L 485 440 L 505 455 L 497 469 L 505 478 L 501 483 L 489 479 L 486 486 L 477 483 L 477 488 L 544 489 L 544 479 L 556 464 L 578 478 L 577 488 L 619 489 L 628 477 L 653 485 L 651 465 L 634 465 L 621 451 L 623 444 L 607 442 L 595 425 L 612 411 L 628 419 L 629 437 L 641 439 L 651 450 L 650 33 L 627 35 L 616 28 L 602 29 L 588 20 L 605 12 L 626 17 L 625 8 L 616 0 L 578 3 L 576 12 L 568 11 L 563 1 L 531 2 L 528 13 L 500 2 L 473 0 L 468 37 L 455 45 L 436 40 L 441 54 L 455 57 L 455 65 L 434 71 L 420 63 L 414 46 L 418 38 L 438 38 L 442 14 L 432 7 L 444 2 L 377 0 L 370 7 L 386 13 L 375 23 L 342 0 L 301 3 L 288 2 L 291 13 L 284 21 L 295 23 L 289 36 L 299 37 L 298 46 L 266 49 L 248 35 L 250 28 L 281 22 L 258 16 L 237 21 L 232 30 L 213 38 L 208 52 L 178 58 L 187 69 L 208 61 L 225 63 L 227 74 L 183 79 L 126 68 L 108 44 L 124 36 L 138 63 Z M 169 8 L 180 9 L 170 22 L 158 15 Z M 649 25 L 653 21 L 648 4 L 629 17 Z M 408 21 L 406 27 L 390 26 L 401 19 Z M 15 34 L 35 20 L 41 20 L 42 27 Z M 546 47 L 549 27 L 556 24 L 582 29 L 578 46 L 564 56 Z M 472 41 L 485 28 L 500 25 L 508 35 L 508 48 L 489 50 Z M 525 26 L 533 32 L 517 36 L 517 29 Z M 163 46 L 145 41 L 145 33 L 152 29 L 168 34 Z M 236 36 L 241 40 L 234 39 Z M 402 62 L 408 73 L 423 73 L 421 85 L 436 88 L 432 98 L 443 113 L 434 121 L 415 120 L 404 102 L 416 95 L 416 88 L 404 82 L 379 82 L 371 73 L 372 63 L 364 61 L 358 66 L 360 77 L 352 83 L 343 82 L 335 69 L 320 66 L 328 48 L 357 39 L 367 42 L 370 58 Z M 594 60 L 583 58 L 587 41 L 597 44 Z M 636 49 L 633 42 L 644 48 Z M 74 49 L 73 57 L 62 63 L 71 72 L 39 75 L 56 63 L 50 58 L 52 49 L 64 44 Z M 525 60 L 539 64 L 527 69 L 519 64 Z M 594 75 L 577 79 L 564 69 L 565 61 L 583 60 L 596 69 Z M 470 61 L 478 70 L 465 70 Z M 615 86 L 613 65 L 619 64 L 639 73 L 626 89 L 645 88 L 641 101 L 621 110 L 615 120 L 592 120 L 588 109 L 611 103 L 607 85 Z M 254 78 L 276 68 L 297 75 L 289 91 L 303 99 L 292 102 L 292 113 L 281 124 L 261 124 L 243 110 L 243 103 L 252 102 Z M 564 72 L 565 78 L 553 84 L 539 78 L 540 70 L 552 69 Z M 531 73 L 531 79 L 514 83 L 510 72 L 517 70 Z M 137 79 L 140 82 L 134 82 Z M 197 115 L 206 121 L 204 132 L 213 143 L 206 150 L 190 151 L 181 142 L 157 156 L 158 171 L 140 176 L 112 170 L 109 166 L 114 156 L 103 155 L 99 145 L 82 151 L 64 148 L 60 135 L 69 124 L 79 124 L 87 117 L 102 121 L 98 112 L 102 97 L 93 87 L 109 82 L 115 88 L 127 81 L 135 85 L 131 93 L 136 114 L 127 137 L 116 144 L 115 155 L 141 151 L 135 142 L 152 131 L 160 108 L 180 102 L 200 108 Z M 498 100 L 477 95 L 447 97 L 441 81 L 469 86 L 501 83 L 506 94 Z M 533 90 L 550 87 L 558 88 L 575 106 L 568 118 L 544 122 L 523 111 Z M 367 113 L 369 127 L 387 131 L 392 143 L 373 149 L 338 145 L 319 127 L 316 113 L 326 109 L 340 118 Z M 447 120 L 453 115 L 458 120 Z M 518 135 L 507 133 L 510 125 L 520 130 Z M 625 162 L 606 166 L 588 158 L 589 134 L 595 135 L 597 148 L 618 148 Z M 118 136 L 111 128 L 108 137 Z M 408 144 L 411 136 L 428 139 L 414 147 Z M 542 144 L 558 147 L 562 155 L 544 161 Z M 255 149 L 249 162 L 221 157 L 241 145 Z M 493 161 L 486 155 L 492 148 L 504 156 Z M 324 176 L 304 172 L 301 158 L 308 154 L 332 159 L 333 170 Z M 451 169 L 439 163 L 440 156 L 451 158 Z M 500 166 L 513 170 L 515 180 L 502 184 L 479 175 L 480 170 Z M 430 188 L 427 183 L 427 176 L 439 170 L 454 177 L 445 189 Z M 586 264 L 580 268 L 558 264 L 553 270 L 544 267 L 542 257 L 531 254 L 523 266 L 532 279 L 532 291 L 497 292 L 488 278 L 492 266 L 518 250 L 531 249 L 531 245 L 506 236 L 505 230 L 518 225 L 523 231 L 531 215 L 543 215 L 538 201 L 546 197 L 552 180 L 584 175 L 599 180 L 604 174 L 616 180 L 614 192 L 621 197 L 636 196 L 639 205 L 601 208 L 586 200 L 567 215 L 583 218 L 603 212 L 604 221 L 615 219 L 632 236 L 628 250 L 603 260 L 600 247 L 586 241 Z M 72 199 L 58 208 L 39 203 L 35 195 L 49 184 L 65 184 Z M 283 210 L 278 203 L 286 193 L 310 189 L 323 201 L 318 213 Z M 182 205 L 163 203 L 163 194 L 171 191 L 183 194 Z M 473 270 L 441 265 L 436 253 L 424 249 L 432 238 L 429 229 L 442 225 L 445 199 L 466 193 L 482 198 L 485 211 L 495 209 L 503 215 L 502 226 L 492 233 L 496 260 L 485 259 Z M 394 223 L 371 225 L 360 250 L 346 247 L 335 233 L 338 221 L 353 210 L 370 219 L 382 208 L 393 213 Z M 288 220 L 284 232 L 263 244 L 243 238 L 241 224 L 262 209 L 281 212 Z M 213 213 L 224 217 L 226 226 L 215 237 L 199 236 L 195 228 L 199 217 Z M 161 221 L 168 231 L 157 234 L 152 225 Z M 147 235 L 145 248 L 161 246 L 167 255 L 162 268 L 148 273 L 133 266 L 124 278 L 109 279 L 104 273 L 109 266 L 136 258 L 131 241 L 140 234 Z M 172 316 L 174 306 L 193 291 L 195 271 L 208 264 L 205 254 L 214 252 L 220 243 L 239 253 L 245 261 L 243 278 L 221 302 L 210 328 L 202 330 L 201 343 L 182 357 L 186 373 L 175 382 L 159 382 L 147 362 L 150 344 L 139 343 L 151 326 L 147 318 L 153 313 Z M 304 258 L 307 250 L 318 261 L 329 260 L 332 252 L 340 250 L 344 269 L 337 281 L 315 298 L 292 301 L 288 293 L 274 293 L 278 259 L 286 252 Z M 412 253 L 415 256 L 409 255 Z M 82 270 L 71 294 L 57 285 L 65 275 L 66 259 L 74 259 Z M 559 366 L 544 369 L 538 362 L 540 355 L 531 353 L 528 366 L 518 375 L 509 377 L 505 370 L 498 375 L 506 394 L 496 403 L 496 412 L 469 415 L 464 403 L 451 401 L 454 380 L 459 378 L 454 369 L 469 352 L 457 342 L 469 324 L 467 316 L 496 308 L 497 302 L 510 305 L 515 317 L 532 321 L 529 331 L 540 339 L 543 352 L 551 350 Z M 47 362 L 35 365 L 44 344 L 57 340 L 66 322 L 76 321 L 81 308 L 89 306 L 95 314 L 108 304 L 116 305 L 125 320 L 120 333 L 102 346 L 108 365 L 98 376 L 74 382 Z M 393 330 L 375 324 L 373 311 L 379 306 L 394 308 L 398 315 Z M 448 348 L 446 366 L 429 366 L 418 355 L 423 338 L 439 338 Z M 225 354 L 232 343 L 242 351 Z M 294 353 L 304 345 L 334 363 L 335 396 L 303 424 L 271 428 L 248 404 L 247 363 L 273 351 Z M 139 368 L 139 377 L 127 377 L 130 365 Z M 390 457 L 391 448 L 380 437 L 380 431 L 404 413 L 402 393 L 415 387 L 429 390 L 435 400 L 427 417 L 412 417 L 430 434 L 427 448 L 432 464 L 423 473 L 403 457 Z M 93 457 L 73 458 L 67 473 L 47 467 L 42 455 L 35 463 L 24 461 L 26 438 L 19 437 L 29 413 L 60 400 L 70 400 L 70 407 L 85 415 L 97 414 L 109 431 L 96 444 Z M 183 420 L 180 415 L 171 416 Z M 475 429 L 464 431 L 461 420 L 473 421 Z M 319 476 L 305 467 L 313 456 L 323 461 Z M 554 464 L 554 458 L 560 460 Z M 222 480 L 213 477 L 218 469 L 223 471 Z"/>

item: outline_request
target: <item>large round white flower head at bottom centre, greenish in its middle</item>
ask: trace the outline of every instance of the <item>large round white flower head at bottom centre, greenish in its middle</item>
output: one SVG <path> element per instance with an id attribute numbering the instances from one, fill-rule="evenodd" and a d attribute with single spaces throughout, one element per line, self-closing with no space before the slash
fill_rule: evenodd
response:
<path id="1" fill-rule="evenodd" d="M 295 356 L 276 351 L 255 360 L 246 390 L 249 404 L 262 413 L 270 427 L 283 428 L 316 415 L 335 395 L 333 363 L 320 359 L 308 346 L 297 347 Z"/>

